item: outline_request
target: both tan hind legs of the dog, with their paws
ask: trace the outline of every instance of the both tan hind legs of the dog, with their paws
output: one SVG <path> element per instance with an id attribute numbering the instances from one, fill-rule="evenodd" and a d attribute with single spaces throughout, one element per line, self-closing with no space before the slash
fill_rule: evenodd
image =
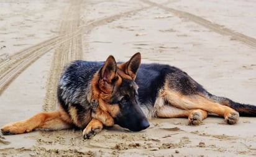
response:
<path id="1" fill-rule="evenodd" d="M 203 94 L 184 95 L 173 91 L 168 81 L 160 89 L 154 110 L 157 117 L 188 117 L 189 123 L 198 125 L 209 113 L 221 115 L 229 123 L 237 123 L 239 114 L 231 107 L 213 102 Z"/>

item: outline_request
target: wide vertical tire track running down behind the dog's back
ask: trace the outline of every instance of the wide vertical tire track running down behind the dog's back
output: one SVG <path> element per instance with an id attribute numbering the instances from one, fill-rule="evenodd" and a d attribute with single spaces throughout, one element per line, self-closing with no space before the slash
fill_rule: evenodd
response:
<path id="1" fill-rule="evenodd" d="M 60 35 L 70 34 L 78 29 L 80 25 L 80 4 L 81 1 L 70 1 L 71 4 L 64 12 L 62 24 L 60 26 Z M 81 34 L 76 35 L 70 41 L 60 44 L 53 54 L 50 74 L 47 81 L 45 101 L 43 111 L 49 112 L 55 110 L 57 104 L 57 84 L 63 66 L 73 60 L 81 59 Z"/>

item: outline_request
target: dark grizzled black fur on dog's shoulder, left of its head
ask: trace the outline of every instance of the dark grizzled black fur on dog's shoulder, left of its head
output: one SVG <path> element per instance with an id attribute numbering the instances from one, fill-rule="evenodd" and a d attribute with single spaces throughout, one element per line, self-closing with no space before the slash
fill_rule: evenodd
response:
<path id="1" fill-rule="evenodd" d="M 78 111 L 76 127 L 85 128 L 91 120 L 92 109 L 95 108 L 88 99 L 90 81 L 104 62 L 77 60 L 67 66 L 60 78 L 57 95 L 62 108 L 70 114 L 70 107 Z M 71 115 L 70 115 L 71 116 Z M 88 116 L 88 121 L 85 121 Z M 73 118 L 73 117 L 72 117 Z"/>

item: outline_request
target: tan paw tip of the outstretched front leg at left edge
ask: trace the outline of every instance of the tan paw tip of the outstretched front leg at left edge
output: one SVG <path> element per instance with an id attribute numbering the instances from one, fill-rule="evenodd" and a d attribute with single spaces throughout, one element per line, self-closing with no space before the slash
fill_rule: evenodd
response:
<path id="1" fill-rule="evenodd" d="M 14 135 L 19 133 L 27 133 L 32 130 L 26 127 L 25 123 L 22 121 L 9 123 L 1 128 L 2 135 Z"/>

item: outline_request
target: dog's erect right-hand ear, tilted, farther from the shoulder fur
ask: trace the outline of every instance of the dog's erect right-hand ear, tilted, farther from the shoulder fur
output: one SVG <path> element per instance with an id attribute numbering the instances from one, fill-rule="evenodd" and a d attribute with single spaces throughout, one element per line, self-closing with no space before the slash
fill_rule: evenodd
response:
<path id="1" fill-rule="evenodd" d="M 140 67 L 141 55 L 139 52 L 135 53 L 129 61 L 119 66 L 119 68 L 128 74 L 133 80 L 136 78 L 136 73 Z"/>

